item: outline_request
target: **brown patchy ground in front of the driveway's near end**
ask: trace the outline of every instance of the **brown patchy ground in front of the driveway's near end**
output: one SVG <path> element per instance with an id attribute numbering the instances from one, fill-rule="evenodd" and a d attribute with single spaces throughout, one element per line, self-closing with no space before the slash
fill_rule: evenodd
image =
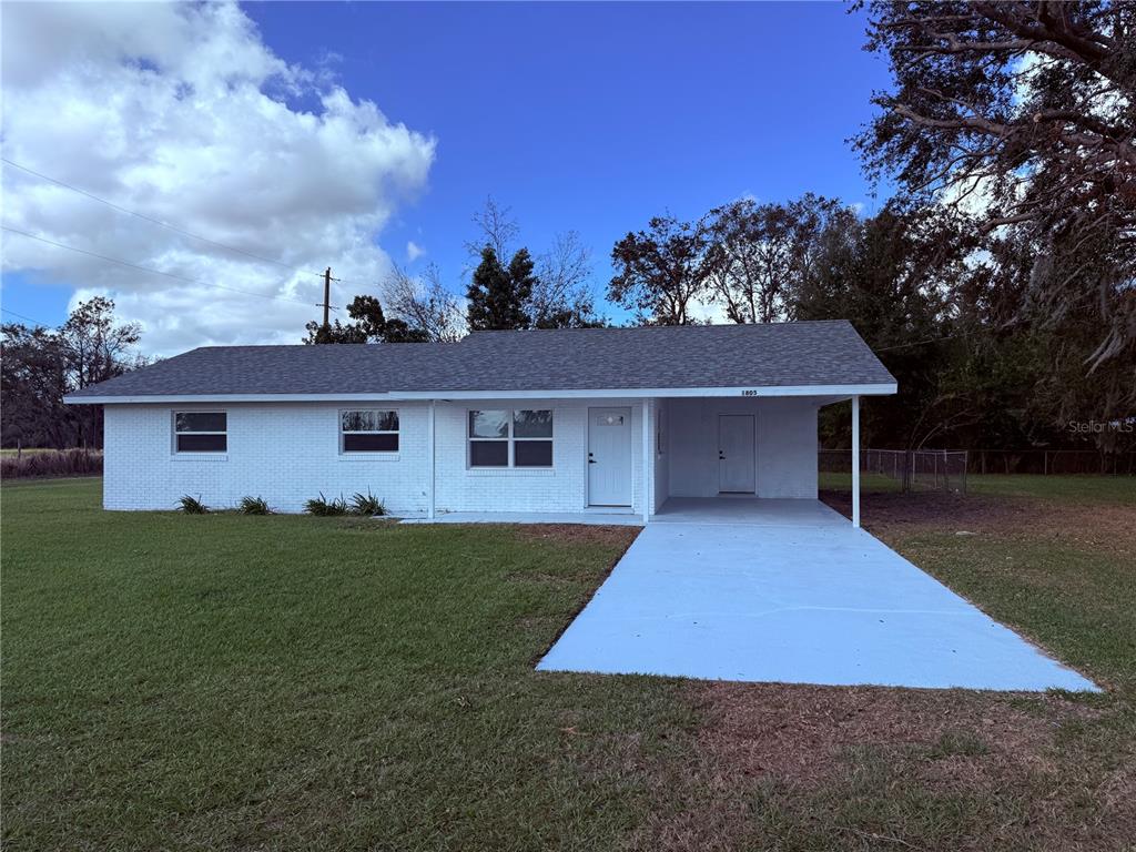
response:
<path id="1" fill-rule="evenodd" d="M 802 849 L 1000 847 L 982 845 L 994 840 L 988 832 L 1014 847 L 1110 849 L 1095 841 L 1136 830 L 1133 770 L 1093 775 L 1060 751 L 1067 726 L 1110 715 L 1084 702 L 785 684 L 690 690 L 702 724 L 678 779 L 685 807 L 649 819 L 635 849 L 763 847 L 786 835 Z M 1070 795 L 1077 788 L 1084 796 Z M 1092 812 L 1078 811 L 1086 801 Z"/>

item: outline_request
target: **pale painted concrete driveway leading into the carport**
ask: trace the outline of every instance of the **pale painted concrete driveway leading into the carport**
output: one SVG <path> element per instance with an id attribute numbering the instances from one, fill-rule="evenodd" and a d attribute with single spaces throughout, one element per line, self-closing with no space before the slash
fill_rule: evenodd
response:
<path id="1" fill-rule="evenodd" d="M 800 500 L 669 501 L 537 668 L 1096 690 L 828 507 Z"/>

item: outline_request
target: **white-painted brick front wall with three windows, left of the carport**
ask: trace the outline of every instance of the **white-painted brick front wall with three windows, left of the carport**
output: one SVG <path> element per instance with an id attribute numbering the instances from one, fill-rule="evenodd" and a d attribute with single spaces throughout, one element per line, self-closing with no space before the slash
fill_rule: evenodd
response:
<path id="1" fill-rule="evenodd" d="M 578 511 L 587 506 L 590 402 L 478 401 L 437 403 L 435 504 L 438 511 Z M 603 400 L 632 414 L 633 510 L 643 506 L 641 402 Z M 173 509 L 183 494 L 214 508 L 245 495 L 278 511 L 301 511 L 320 492 L 328 499 L 368 490 L 395 515 L 428 507 L 428 403 L 391 402 L 400 419 L 399 452 L 340 453 L 339 412 L 358 403 L 231 403 L 225 406 L 107 406 L 103 506 Z M 551 469 L 470 469 L 466 421 L 470 408 L 553 409 Z M 225 410 L 228 450 L 220 456 L 173 452 L 173 411 Z M 651 432 L 653 442 L 654 433 Z M 652 460 L 654 453 L 652 451 Z M 648 479 L 652 504 L 654 477 Z"/>

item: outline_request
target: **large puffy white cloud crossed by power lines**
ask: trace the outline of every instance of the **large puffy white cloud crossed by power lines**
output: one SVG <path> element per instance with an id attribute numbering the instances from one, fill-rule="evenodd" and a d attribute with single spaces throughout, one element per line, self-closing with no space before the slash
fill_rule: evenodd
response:
<path id="1" fill-rule="evenodd" d="M 425 187 L 434 159 L 433 139 L 334 82 L 334 57 L 316 69 L 287 65 L 235 5 L 6 5 L 2 53 L 6 158 L 290 267 L 331 266 L 343 279 L 333 303 L 390 268 L 376 237 Z M 110 293 L 123 318 L 144 325 L 148 352 L 298 342 L 318 314 L 314 275 L 181 236 L 7 166 L 3 195 L 5 224 L 20 231 L 278 298 L 3 235 L 6 270 L 73 284 L 73 302 Z"/>

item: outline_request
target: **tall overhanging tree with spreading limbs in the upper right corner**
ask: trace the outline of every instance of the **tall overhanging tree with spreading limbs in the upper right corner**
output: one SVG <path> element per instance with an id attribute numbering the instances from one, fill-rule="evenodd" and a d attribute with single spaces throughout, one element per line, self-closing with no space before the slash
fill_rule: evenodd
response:
<path id="1" fill-rule="evenodd" d="M 880 0 L 870 17 L 894 86 L 855 141 L 869 172 L 966 211 L 975 237 L 1031 241 L 1019 318 L 1092 316 L 1088 364 L 1130 362 L 1136 5 Z M 1113 414 L 1134 401 L 1130 386 Z"/>

